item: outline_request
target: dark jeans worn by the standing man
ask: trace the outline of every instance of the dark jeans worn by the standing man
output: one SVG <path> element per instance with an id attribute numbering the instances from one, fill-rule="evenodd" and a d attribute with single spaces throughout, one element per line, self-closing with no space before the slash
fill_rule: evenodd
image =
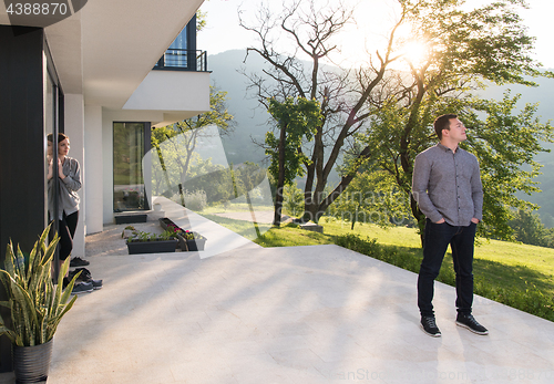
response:
<path id="1" fill-rule="evenodd" d="M 439 276 L 448 246 L 452 249 L 455 272 L 455 307 L 459 313 L 471 313 L 473 304 L 473 243 L 476 224 L 454 227 L 427 219 L 423 261 L 418 278 L 418 307 L 422 316 L 433 315 L 434 279 Z"/>

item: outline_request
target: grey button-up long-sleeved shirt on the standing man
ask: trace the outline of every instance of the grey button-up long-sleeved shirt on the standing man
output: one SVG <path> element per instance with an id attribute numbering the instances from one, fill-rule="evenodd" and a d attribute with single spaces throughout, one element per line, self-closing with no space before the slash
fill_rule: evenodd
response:
<path id="1" fill-rule="evenodd" d="M 455 153 L 442 144 L 416 156 L 413 197 L 431 221 L 444 218 L 452 226 L 469 226 L 483 218 L 483 187 L 479 162 L 458 147 Z"/>

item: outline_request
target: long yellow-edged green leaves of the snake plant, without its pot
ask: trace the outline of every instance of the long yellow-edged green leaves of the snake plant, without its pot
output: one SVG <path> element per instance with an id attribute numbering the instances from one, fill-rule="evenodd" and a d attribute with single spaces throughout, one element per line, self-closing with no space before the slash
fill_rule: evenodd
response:
<path id="1" fill-rule="evenodd" d="M 50 341 L 62 316 L 76 300 L 76 297 L 70 297 L 79 273 L 63 290 L 70 258 L 62 266 L 58 286 L 52 281 L 52 261 L 59 237 L 57 233 L 47 246 L 49 231 L 50 226 L 28 256 L 19 246 L 14 251 L 10 240 L 4 268 L 0 269 L 0 280 L 8 297 L 7 301 L 0 301 L 0 305 L 10 310 L 11 319 L 10 325 L 0 316 L 0 335 L 6 334 L 14 345 L 32 346 Z"/>

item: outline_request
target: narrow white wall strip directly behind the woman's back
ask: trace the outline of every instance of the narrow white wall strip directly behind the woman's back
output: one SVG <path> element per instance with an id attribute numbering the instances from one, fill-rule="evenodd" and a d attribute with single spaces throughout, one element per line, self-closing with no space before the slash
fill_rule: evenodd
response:
<path id="1" fill-rule="evenodd" d="M 84 158 L 84 105 L 83 95 L 80 94 L 65 94 L 64 95 L 64 131 L 70 137 L 70 157 L 75 158 L 81 166 L 81 181 L 84 181 L 86 166 Z M 84 233 L 86 231 L 85 225 L 85 204 L 86 191 L 84 186 L 79 191 L 81 198 L 79 224 L 76 226 L 75 236 L 73 238 L 72 257 L 84 256 Z"/>

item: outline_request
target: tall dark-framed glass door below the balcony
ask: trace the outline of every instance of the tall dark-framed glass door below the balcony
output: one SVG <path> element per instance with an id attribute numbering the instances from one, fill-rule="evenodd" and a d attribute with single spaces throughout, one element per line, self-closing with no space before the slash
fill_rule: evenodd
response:
<path id="1" fill-rule="evenodd" d="M 113 210 L 146 209 L 144 123 L 113 123 Z"/>

